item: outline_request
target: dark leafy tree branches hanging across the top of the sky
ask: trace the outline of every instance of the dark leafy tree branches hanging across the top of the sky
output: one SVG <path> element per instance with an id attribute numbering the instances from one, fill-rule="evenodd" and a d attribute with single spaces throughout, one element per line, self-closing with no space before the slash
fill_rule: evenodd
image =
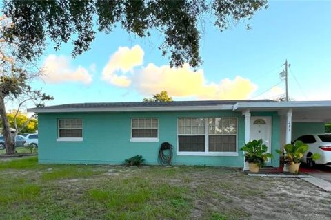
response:
<path id="1" fill-rule="evenodd" d="M 3 12 L 14 25 L 6 28 L 7 39 L 19 38 L 19 56 L 40 56 L 50 39 L 54 48 L 72 41 L 72 56 L 90 49 L 96 31 L 110 34 L 121 25 L 128 33 L 150 36 L 155 30 L 164 37 L 159 45 L 170 66 L 201 64 L 199 40 L 203 25 L 210 21 L 223 31 L 232 23 L 250 19 L 267 7 L 267 0 L 5 0 Z M 94 24 L 94 21 L 97 21 Z M 97 28 L 97 30 L 95 30 Z"/>

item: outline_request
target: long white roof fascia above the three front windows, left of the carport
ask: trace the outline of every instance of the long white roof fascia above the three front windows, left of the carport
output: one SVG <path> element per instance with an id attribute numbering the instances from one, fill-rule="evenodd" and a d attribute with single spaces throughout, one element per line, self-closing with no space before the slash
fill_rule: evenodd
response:
<path id="1" fill-rule="evenodd" d="M 117 107 L 117 108 L 59 108 L 59 109 L 28 109 L 35 113 L 60 112 L 123 112 L 123 111 L 205 111 L 205 110 L 232 110 L 232 104 L 219 104 L 214 106 L 172 106 L 172 107 Z"/>

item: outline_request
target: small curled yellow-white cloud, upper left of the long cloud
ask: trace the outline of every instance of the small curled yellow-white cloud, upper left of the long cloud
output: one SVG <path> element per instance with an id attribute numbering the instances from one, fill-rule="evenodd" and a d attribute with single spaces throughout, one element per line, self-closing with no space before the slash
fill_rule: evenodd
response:
<path id="1" fill-rule="evenodd" d="M 119 47 L 117 52 L 110 56 L 107 65 L 103 68 L 101 79 L 119 87 L 130 86 L 132 81 L 124 74 L 143 64 L 143 54 L 139 45 L 135 45 L 131 49 Z"/>

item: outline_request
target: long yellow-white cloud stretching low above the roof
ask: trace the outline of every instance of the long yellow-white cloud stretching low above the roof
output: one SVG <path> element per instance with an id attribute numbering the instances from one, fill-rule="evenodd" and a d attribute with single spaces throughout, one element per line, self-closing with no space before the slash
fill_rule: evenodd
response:
<path id="1" fill-rule="evenodd" d="M 219 83 L 207 83 L 202 69 L 194 72 L 188 64 L 179 68 L 168 65 L 157 67 L 150 63 L 134 74 L 132 86 L 142 94 L 155 94 L 161 90 L 176 97 L 196 96 L 199 99 L 245 99 L 257 88 L 250 80 L 236 76 Z"/>

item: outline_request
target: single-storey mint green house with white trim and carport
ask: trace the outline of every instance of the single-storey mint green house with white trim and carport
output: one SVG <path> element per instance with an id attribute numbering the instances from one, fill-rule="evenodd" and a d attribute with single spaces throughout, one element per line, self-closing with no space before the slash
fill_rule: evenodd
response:
<path id="1" fill-rule="evenodd" d="M 241 146 L 263 138 L 274 150 L 303 133 L 323 133 L 331 101 L 270 100 L 63 104 L 38 113 L 39 163 L 123 164 L 142 155 L 158 164 L 163 142 L 174 146 L 172 164 L 243 167 Z"/>

